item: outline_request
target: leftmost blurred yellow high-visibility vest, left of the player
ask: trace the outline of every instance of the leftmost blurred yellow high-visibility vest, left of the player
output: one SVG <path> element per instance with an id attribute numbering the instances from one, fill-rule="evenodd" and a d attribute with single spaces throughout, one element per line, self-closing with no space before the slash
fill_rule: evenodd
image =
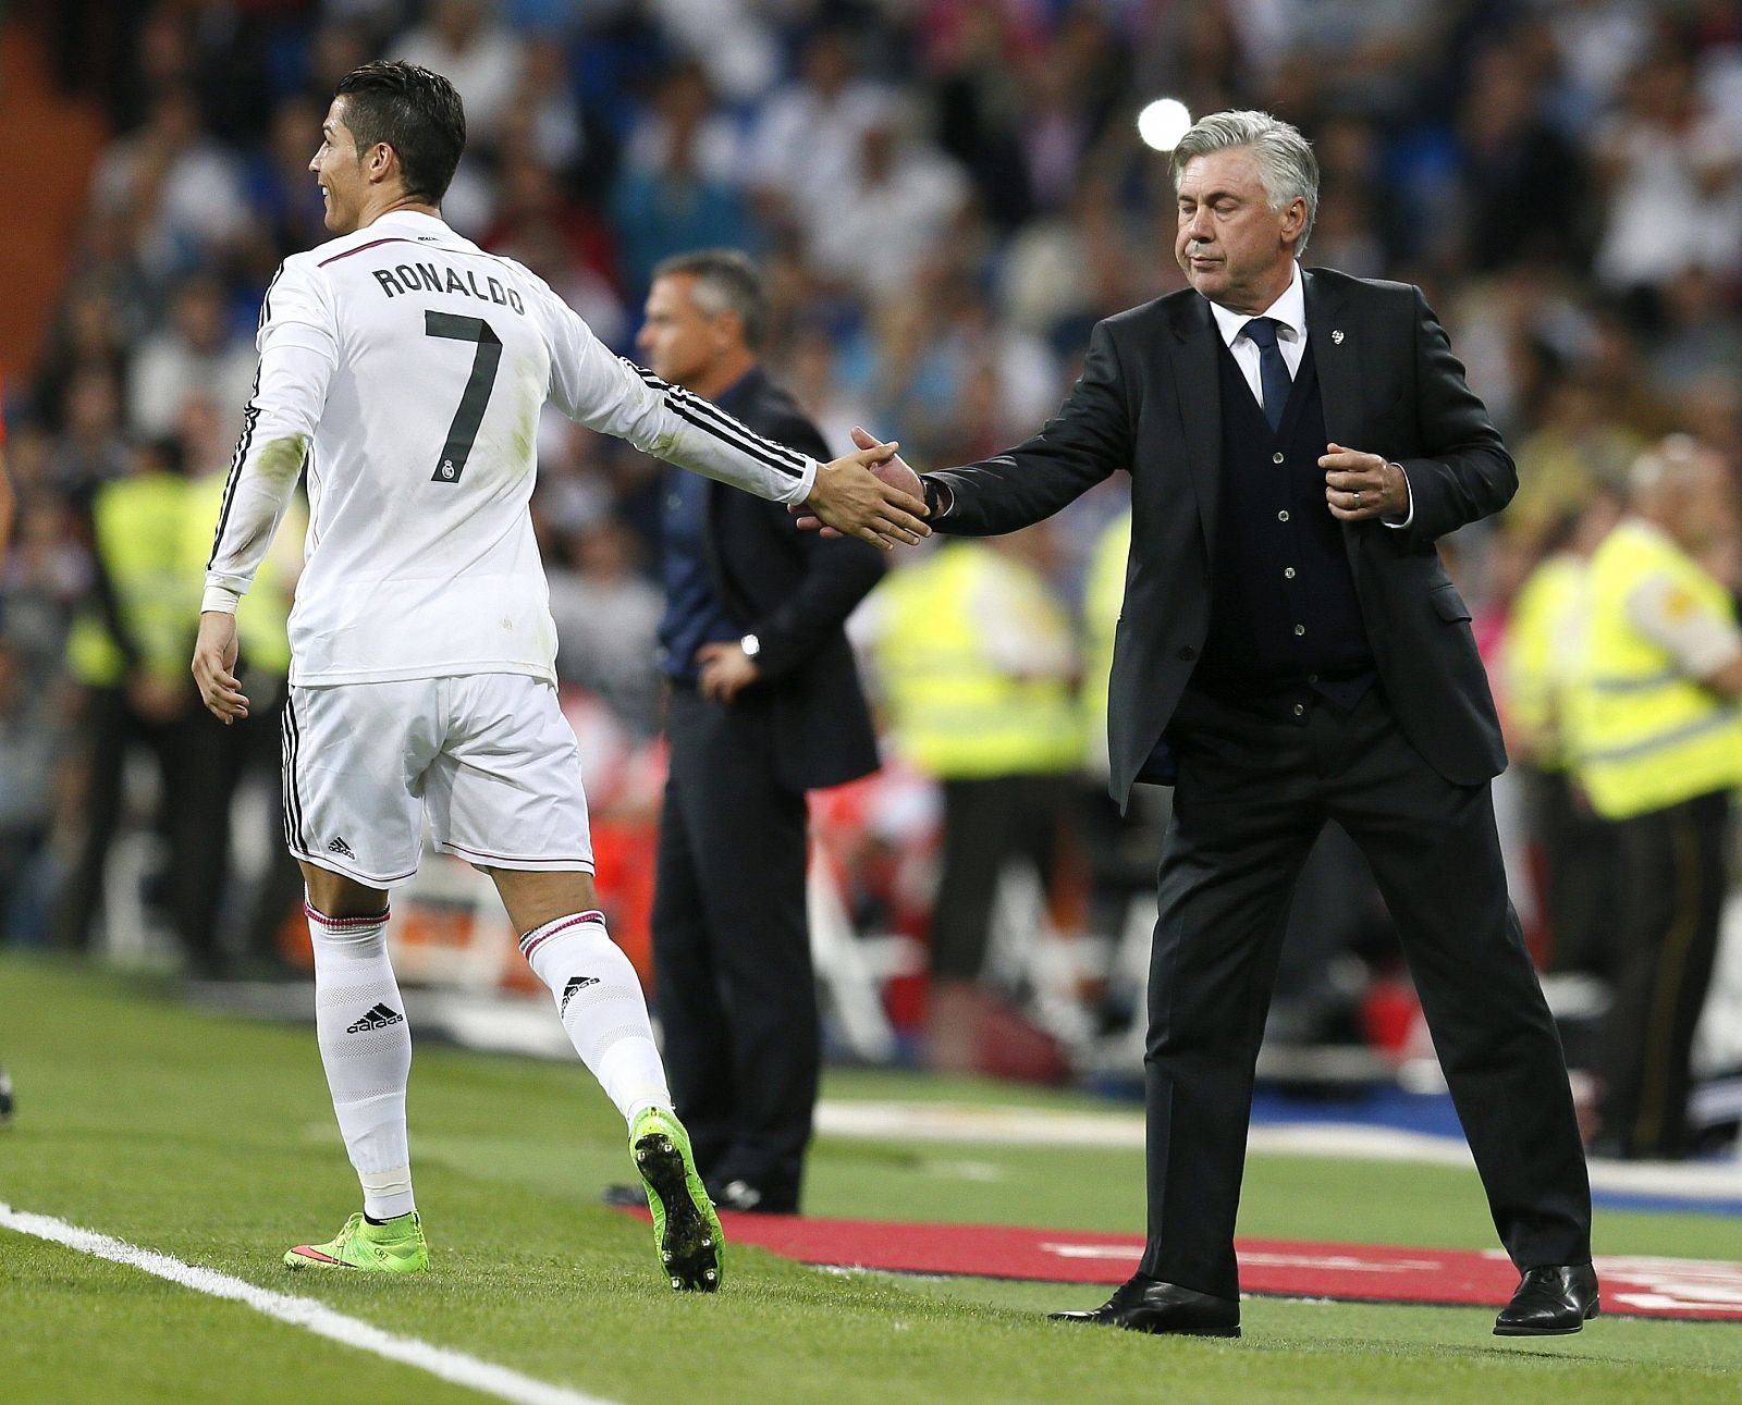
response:
<path id="1" fill-rule="evenodd" d="M 186 568 L 183 541 L 190 510 L 179 474 L 138 474 L 98 489 L 92 505 L 96 555 L 115 592 L 115 609 L 139 651 L 138 667 L 160 679 L 188 677 L 204 580 Z M 66 641 L 73 677 L 115 688 L 127 658 L 91 604 Z"/>

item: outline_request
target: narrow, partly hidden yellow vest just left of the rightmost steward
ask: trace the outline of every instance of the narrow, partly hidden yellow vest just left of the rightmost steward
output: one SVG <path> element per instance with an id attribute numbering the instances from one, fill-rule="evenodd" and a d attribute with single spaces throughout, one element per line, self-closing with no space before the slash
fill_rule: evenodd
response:
<path id="1" fill-rule="evenodd" d="M 1589 562 L 1550 555 L 1519 590 L 1502 651 L 1502 702 L 1507 721 L 1528 738 L 1542 770 L 1566 766 L 1566 689 L 1583 660 L 1589 623 Z"/>

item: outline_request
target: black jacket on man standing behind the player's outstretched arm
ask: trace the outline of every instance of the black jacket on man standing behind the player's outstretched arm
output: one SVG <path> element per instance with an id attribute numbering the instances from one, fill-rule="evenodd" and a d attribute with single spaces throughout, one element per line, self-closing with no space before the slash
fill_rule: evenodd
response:
<path id="1" fill-rule="evenodd" d="M 798 402 L 760 367 L 721 407 L 777 444 L 826 463 L 833 454 Z M 843 629 L 883 575 L 883 554 L 800 531 L 782 503 L 707 486 L 702 541 L 714 597 L 761 641 L 756 663 L 773 712 L 775 766 L 791 790 L 840 785 L 878 768 L 876 733 Z"/>

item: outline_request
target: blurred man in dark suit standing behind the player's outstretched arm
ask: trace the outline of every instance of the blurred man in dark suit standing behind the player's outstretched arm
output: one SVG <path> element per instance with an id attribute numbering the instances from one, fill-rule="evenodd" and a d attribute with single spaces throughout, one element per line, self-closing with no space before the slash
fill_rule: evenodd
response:
<path id="1" fill-rule="evenodd" d="M 827 461 L 817 427 L 756 364 L 766 320 L 744 254 L 685 254 L 655 268 L 639 345 L 662 380 Z M 714 1203 L 791 1213 L 820 1059 L 805 792 L 878 766 L 841 625 L 883 559 L 796 533 L 777 503 L 695 474 L 667 475 L 664 528 L 671 775 L 653 973 L 665 1069 Z"/>

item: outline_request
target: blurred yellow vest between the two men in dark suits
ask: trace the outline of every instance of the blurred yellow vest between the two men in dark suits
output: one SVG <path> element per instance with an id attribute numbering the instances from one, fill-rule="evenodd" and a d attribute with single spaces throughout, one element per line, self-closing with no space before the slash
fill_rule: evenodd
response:
<path id="1" fill-rule="evenodd" d="M 941 780 L 1059 775 L 1082 759 L 1082 717 L 1068 679 L 1017 679 L 979 637 L 984 594 L 1021 629 L 1070 639 L 1070 616 L 1026 566 L 979 541 L 951 541 L 878 585 L 887 629 L 874 658 L 895 740 Z"/>

